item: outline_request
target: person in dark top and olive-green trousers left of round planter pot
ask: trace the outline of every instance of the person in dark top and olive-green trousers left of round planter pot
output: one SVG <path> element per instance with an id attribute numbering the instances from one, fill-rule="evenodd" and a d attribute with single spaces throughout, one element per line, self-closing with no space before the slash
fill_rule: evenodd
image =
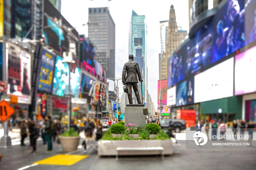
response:
<path id="1" fill-rule="evenodd" d="M 52 132 L 54 131 L 54 123 L 50 115 L 45 116 L 45 139 L 47 142 L 46 153 L 52 152 Z"/>

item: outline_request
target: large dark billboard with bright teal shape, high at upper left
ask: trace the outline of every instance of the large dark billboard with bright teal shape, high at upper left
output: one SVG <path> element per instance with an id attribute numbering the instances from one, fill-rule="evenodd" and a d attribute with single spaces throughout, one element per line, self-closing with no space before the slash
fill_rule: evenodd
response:
<path id="1" fill-rule="evenodd" d="M 68 28 L 71 24 L 60 14 L 60 12 L 49 2 L 44 2 L 44 36 L 45 43 L 62 54 L 69 49 Z M 78 54 L 79 34 L 74 29 L 71 31 L 71 42 L 76 45 Z"/>

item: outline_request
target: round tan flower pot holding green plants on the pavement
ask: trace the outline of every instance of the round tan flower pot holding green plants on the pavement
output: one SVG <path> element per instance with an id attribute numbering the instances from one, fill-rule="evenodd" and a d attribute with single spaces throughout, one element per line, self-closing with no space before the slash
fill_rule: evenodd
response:
<path id="1" fill-rule="evenodd" d="M 77 137 L 62 137 L 60 136 L 60 143 L 63 152 L 71 152 L 77 150 L 80 136 Z"/>

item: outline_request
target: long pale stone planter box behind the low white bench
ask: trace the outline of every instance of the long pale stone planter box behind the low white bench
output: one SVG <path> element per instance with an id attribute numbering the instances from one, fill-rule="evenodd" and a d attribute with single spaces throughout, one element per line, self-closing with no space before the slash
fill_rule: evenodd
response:
<path id="1" fill-rule="evenodd" d="M 100 140 L 98 142 L 99 156 L 115 156 L 118 147 L 163 147 L 165 155 L 173 154 L 171 140 Z M 118 155 L 153 155 L 159 151 L 122 151 Z"/>

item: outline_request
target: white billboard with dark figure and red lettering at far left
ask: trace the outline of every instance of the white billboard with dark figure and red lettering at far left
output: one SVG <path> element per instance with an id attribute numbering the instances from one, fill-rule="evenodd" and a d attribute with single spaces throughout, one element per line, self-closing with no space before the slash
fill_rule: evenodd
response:
<path id="1" fill-rule="evenodd" d="M 17 96 L 18 103 L 31 104 L 31 55 L 12 43 L 7 44 L 7 94 Z"/>

